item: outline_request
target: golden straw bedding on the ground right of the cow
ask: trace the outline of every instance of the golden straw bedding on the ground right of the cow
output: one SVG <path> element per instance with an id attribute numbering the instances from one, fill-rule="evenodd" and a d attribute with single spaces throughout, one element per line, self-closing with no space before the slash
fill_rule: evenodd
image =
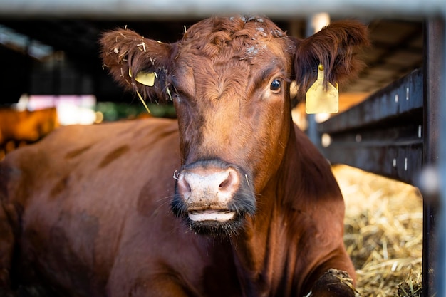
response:
<path id="1" fill-rule="evenodd" d="M 421 296 L 422 198 L 418 189 L 336 165 L 346 201 L 346 249 L 358 296 Z"/>

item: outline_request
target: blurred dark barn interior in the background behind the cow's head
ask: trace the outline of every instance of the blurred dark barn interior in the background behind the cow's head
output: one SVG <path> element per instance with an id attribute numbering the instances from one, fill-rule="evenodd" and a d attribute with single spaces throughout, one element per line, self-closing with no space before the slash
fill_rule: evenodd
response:
<path id="1" fill-rule="evenodd" d="M 3 136 L 0 135 L 0 142 L 4 151 L 14 149 L 17 142 L 37 140 L 54 125 L 91 124 L 147 115 L 138 97 L 120 88 L 103 69 L 99 58 L 100 34 L 126 27 L 147 38 L 175 42 L 182 38 L 185 28 L 204 17 L 152 14 L 148 17 L 125 15 L 113 18 L 85 14 L 66 16 L 57 14 L 57 11 L 21 14 L 21 11 L 24 10 L 0 14 L 0 55 L 4 66 L 0 69 L 0 108 L 4 114 L 8 109 L 15 109 L 26 111 L 27 115 L 36 110 L 56 108 L 57 123 L 45 125 L 48 128 L 39 127 L 41 132 L 38 136 L 36 131 L 8 132 L 6 127 L 2 127 L 4 132 Z M 421 17 L 370 19 L 363 14 L 348 17 L 368 24 L 373 46 L 360 53 L 366 67 L 358 78 L 340 86 L 340 110 L 355 105 L 376 90 L 422 67 L 423 63 Z M 305 38 L 308 35 L 310 24 L 304 16 L 274 15 L 271 19 L 292 36 Z M 331 20 L 336 20 L 336 16 Z M 171 105 L 149 105 L 151 115 L 175 117 Z M 306 129 L 308 120 L 303 107 L 302 104 L 296 108 L 294 119 Z M 36 120 L 30 122 L 34 124 L 29 125 L 36 126 Z M 21 127 L 26 129 L 26 125 Z M 36 127 L 30 129 L 36 130 Z"/>

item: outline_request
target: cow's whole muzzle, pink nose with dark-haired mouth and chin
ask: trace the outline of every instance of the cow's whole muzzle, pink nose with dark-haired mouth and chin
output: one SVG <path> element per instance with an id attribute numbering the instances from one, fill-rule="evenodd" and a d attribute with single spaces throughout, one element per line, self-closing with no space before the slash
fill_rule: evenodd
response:
<path id="1" fill-rule="evenodd" d="M 220 160 L 186 165 L 177 176 L 172 211 L 199 233 L 236 231 L 255 212 L 249 180 L 239 167 Z"/>

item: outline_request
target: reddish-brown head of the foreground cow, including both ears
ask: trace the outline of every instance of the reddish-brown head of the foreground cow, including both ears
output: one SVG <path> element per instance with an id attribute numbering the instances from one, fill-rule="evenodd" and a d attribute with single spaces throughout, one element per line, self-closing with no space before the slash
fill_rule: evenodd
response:
<path id="1" fill-rule="evenodd" d="M 175 105 L 182 168 L 173 212 L 198 233 L 230 234 L 256 212 L 256 197 L 281 166 L 291 81 L 306 90 L 319 63 L 327 81 L 350 78 L 358 70 L 353 50 L 368 38 L 356 21 L 297 40 L 268 19 L 234 16 L 200 21 L 177 43 L 126 29 L 100 42 L 115 80 Z M 138 73 L 155 73 L 154 85 L 138 83 Z"/>

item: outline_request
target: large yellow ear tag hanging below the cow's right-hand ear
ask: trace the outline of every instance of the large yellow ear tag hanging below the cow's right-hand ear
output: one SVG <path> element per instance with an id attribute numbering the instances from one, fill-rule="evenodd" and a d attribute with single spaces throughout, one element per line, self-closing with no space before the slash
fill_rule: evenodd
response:
<path id="1" fill-rule="evenodd" d="M 323 66 L 318 66 L 318 79 L 306 92 L 305 111 L 306 113 L 338 113 L 339 92 L 338 84 L 336 88 L 327 82 L 327 88 L 323 86 Z"/>

